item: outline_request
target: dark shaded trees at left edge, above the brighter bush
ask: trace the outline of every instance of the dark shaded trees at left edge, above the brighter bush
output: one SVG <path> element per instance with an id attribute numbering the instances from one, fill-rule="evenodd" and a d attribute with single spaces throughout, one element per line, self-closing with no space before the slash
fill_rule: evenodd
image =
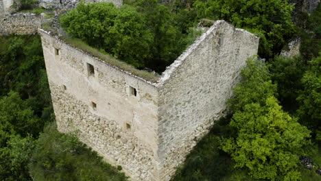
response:
<path id="1" fill-rule="evenodd" d="M 0 36 L 0 97 L 19 93 L 38 117 L 51 119 L 51 96 L 39 36 Z M 46 121 L 47 121 L 46 120 Z"/>

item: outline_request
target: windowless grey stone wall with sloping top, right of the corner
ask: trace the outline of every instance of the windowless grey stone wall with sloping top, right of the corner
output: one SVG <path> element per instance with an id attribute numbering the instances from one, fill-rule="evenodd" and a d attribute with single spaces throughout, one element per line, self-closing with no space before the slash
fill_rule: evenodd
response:
<path id="1" fill-rule="evenodd" d="M 162 180 L 222 117 L 259 38 L 225 21 L 214 25 L 169 67 L 159 82 L 158 157 Z"/>

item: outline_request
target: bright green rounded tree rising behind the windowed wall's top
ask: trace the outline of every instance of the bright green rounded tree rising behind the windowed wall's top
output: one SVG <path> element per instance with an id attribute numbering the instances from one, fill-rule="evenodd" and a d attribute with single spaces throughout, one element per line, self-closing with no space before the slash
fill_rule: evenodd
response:
<path id="1" fill-rule="evenodd" d="M 75 38 L 111 53 L 136 68 L 150 58 L 152 34 L 142 14 L 129 5 L 117 9 L 113 3 L 84 3 L 61 16 L 60 23 Z"/>

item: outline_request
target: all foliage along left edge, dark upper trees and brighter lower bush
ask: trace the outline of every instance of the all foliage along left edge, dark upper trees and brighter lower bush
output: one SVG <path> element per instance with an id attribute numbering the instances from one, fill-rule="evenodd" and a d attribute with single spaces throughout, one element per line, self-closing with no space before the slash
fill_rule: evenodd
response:
<path id="1" fill-rule="evenodd" d="M 0 180 L 31 180 L 32 141 L 53 119 L 38 36 L 0 37 Z"/>

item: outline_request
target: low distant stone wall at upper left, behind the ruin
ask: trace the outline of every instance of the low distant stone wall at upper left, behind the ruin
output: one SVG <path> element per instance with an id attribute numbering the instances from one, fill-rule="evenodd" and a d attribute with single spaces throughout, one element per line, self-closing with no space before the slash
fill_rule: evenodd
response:
<path id="1" fill-rule="evenodd" d="M 41 17 L 33 13 L 0 14 L 0 35 L 36 34 L 40 26 Z"/>

